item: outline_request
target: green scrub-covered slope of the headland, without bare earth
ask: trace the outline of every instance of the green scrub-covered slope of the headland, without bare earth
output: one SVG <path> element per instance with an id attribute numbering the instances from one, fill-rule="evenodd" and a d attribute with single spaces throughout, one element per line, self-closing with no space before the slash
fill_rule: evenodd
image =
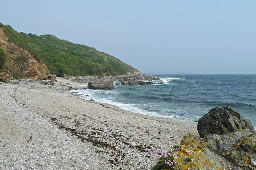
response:
<path id="1" fill-rule="evenodd" d="M 18 33 L 1 23 L 0 27 L 9 41 L 42 59 L 51 74 L 57 76 L 116 76 L 138 72 L 119 59 L 87 45 L 60 40 L 53 35 Z"/>

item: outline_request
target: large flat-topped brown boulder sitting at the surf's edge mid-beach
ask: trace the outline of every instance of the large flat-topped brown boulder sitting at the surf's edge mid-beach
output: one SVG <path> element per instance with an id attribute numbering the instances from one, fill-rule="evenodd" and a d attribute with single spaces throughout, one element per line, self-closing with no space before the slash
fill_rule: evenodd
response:
<path id="1" fill-rule="evenodd" d="M 105 89 L 105 90 L 113 90 L 114 84 L 112 81 L 107 80 L 97 80 L 88 82 L 89 89 Z"/>

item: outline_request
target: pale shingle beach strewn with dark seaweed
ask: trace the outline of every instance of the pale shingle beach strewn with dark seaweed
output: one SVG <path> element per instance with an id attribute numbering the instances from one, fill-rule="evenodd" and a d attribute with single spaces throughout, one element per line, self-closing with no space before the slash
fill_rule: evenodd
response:
<path id="1" fill-rule="evenodd" d="M 54 86 L 0 84 L 0 169 L 148 170 L 196 124 L 132 113 Z M 67 85 L 67 83 L 69 83 Z"/>

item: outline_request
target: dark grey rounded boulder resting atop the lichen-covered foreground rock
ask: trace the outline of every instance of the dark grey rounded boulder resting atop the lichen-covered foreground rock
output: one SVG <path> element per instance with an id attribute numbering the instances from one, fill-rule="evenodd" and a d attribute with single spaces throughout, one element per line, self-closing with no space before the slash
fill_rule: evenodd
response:
<path id="1" fill-rule="evenodd" d="M 225 134 L 241 129 L 253 129 L 251 122 L 229 106 L 211 109 L 198 121 L 197 130 L 201 137 Z"/>

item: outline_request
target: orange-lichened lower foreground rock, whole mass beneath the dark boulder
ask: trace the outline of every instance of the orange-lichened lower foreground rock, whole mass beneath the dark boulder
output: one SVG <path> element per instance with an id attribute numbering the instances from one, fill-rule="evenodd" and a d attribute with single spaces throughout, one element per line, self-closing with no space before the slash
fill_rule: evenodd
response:
<path id="1" fill-rule="evenodd" d="M 189 152 L 188 155 L 184 152 Z M 192 151 L 192 152 L 191 152 Z M 197 134 L 188 133 L 181 141 L 176 160 L 185 155 L 193 162 L 183 165 L 182 169 L 256 169 L 256 131 L 243 129 L 223 135 L 213 134 L 200 138 Z M 203 163 L 205 162 L 205 163 Z M 196 168 L 197 167 L 197 168 Z"/>

